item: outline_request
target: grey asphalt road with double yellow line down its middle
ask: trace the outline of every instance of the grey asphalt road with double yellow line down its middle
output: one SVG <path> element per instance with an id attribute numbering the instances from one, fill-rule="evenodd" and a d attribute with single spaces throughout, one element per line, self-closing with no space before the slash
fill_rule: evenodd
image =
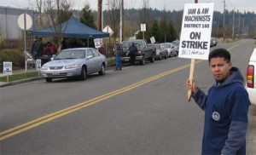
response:
<path id="1" fill-rule="evenodd" d="M 253 40 L 219 44 L 246 77 Z M 214 48 L 212 48 L 214 49 Z M 200 154 L 204 112 L 187 100 L 189 59 L 172 57 L 91 75 L 0 88 L 1 154 Z M 195 79 L 207 91 L 207 60 Z M 255 154 L 250 106 L 247 154 Z"/>

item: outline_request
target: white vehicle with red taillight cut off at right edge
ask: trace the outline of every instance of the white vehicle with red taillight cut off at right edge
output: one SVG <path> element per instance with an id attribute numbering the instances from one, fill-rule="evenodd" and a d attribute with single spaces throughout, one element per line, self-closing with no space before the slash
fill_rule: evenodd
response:
<path id="1" fill-rule="evenodd" d="M 247 66 L 247 83 L 245 88 L 247 89 L 250 102 L 256 106 L 256 48 L 254 48 Z"/>

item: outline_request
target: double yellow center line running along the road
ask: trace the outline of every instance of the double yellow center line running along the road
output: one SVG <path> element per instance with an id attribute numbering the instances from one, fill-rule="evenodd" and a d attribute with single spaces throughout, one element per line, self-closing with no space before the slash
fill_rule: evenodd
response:
<path id="1" fill-rule="evenodd" d="M 198 60 L 196 61 L 196 63 L 199 63 L 201 60 Z M 143 81 L 140 81 L 140 82 L 137 82 L 137 83 L 133 83 L 125 88 L 122 88 L 122 89 L 117 89 L 117 90 L 114 90 L 108 94 L 105 94 L 105 95 L 100 95 L 96 98 L 93 98 L 93 99 L 90 99 L 90 100 L 86 100 L 84 102 L 81 102 L 77 105 L 74 105 L 74 106 L 70 106 L 70 107 L 67 107 L 65 109 L 62 109 L 61 111 L 57 111 L 57 112 L 53 112 L 53 113 L 50 113 L 49 115 L 45 115 L 44 117 L 41 117 L 41 118 L 37 118 L 37 119 L 34 119 L 30 122 L 27 122 L 27 123 L 23 123 L 23 124 L 20 124 L 19 126 L 16 126 L 14 128 L 11 128 L 11 129 L 7 129 L 3 132 L 0 133 L 0 141 L 3 141 L 11 136 L 14 136 L 14 135 L 18 135 L 28 129 L 32 129 L 32 128 L 35 128 L 43 123 L 48 123 L 49 121 L 52 121 L 56 118 L 61 118 L 62 116 L 65 116 L 69 113 L 72 113 L 72 112 L 76 112 L 76 111 L 79 111 L 80 109 L 84 108 L 84 107 L 87 107 L 87 106 L 91 106 L 91 105 L 94 105 L 102 100 L 106 100 L 108 98 L 111 98 L 115 95 L 119 95 L 121 93 L 124 93 L 126 91 L 129 91 L 131 89 L 135 89 L 145 83 L 149 83 L 155 79 L 158 79 L 158 78 L 162 78 L 168 74 L 171 74 L 173 72 L 177 72 L 177 71 L 180 71 L 180 70 L 183 70 L 184 68 L 187 68 L 189 67 L 190 64 L 188 65 L 185 65 L 185 66 L 180 66 L 180 67 L 177 67 L 173 70 L 170 70 L 170 71 L 167 71 L 167 72 L 163 72 L 163 73 L 160 73 L 154 77 L 151 77 L 151 78 L 146 78 L 144 79 Z"/>

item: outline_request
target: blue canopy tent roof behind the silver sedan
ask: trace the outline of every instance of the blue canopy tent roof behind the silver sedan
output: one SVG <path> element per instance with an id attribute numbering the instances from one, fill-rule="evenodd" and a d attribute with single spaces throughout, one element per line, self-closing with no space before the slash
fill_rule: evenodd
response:
<path id="1" fill-rule="evenodd" d="M 57 27 L 61 27 L 61 37 L 77 37 L 77 38 L 102 38 L 109 37 L 108 32 L 100 32 L 96 29 L 93 29 L 89 26 L 85 26 L 79 20 L 74 18 L 73 16 L 61 23 L 59 26 L 50 27 L 42 30 L 32 31 L 33 36 L 41 36 L 41 37 L 56 37 Z"/>

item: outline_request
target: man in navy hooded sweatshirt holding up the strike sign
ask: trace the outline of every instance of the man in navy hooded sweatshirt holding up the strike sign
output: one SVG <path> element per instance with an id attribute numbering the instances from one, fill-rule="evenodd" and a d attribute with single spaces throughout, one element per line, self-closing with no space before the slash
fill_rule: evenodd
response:
<path id="1" fill-rule="evenodd" d="M 205 111 L 202 154 L 246 154 L 247 113 L 250 105 L 240 70 L 232 66 L 230 52 L 214 49 L 209 66 L 215 83 L 206 95 L 195 79 L 186 83 L 192 98 Z"/>

